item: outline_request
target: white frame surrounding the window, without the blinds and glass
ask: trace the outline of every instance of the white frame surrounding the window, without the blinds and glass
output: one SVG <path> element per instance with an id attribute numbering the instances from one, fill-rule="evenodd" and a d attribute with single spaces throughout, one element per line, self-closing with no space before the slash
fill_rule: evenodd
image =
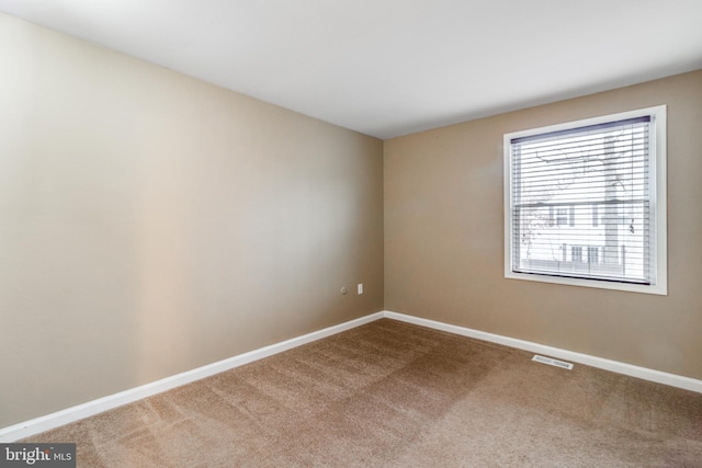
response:
<path id="1" fill-rule="evenodd" d="M 512 271 L 512 157 L 511 140 L 514 138 L 546 134 L 552 132 L 573 129 L 589 125 L 604 124 L 609 122 L 624 121 L 649 115 L 652 117 L 652 144 L 649 167 L 650 213 L 654 219 L 656 259 L 655 284 L 643 285 L 633 283 L 619 283 L 609 281 L 574 278 L 565 276 L 552 276 L 534 273 L 518 273 Z M 586 118 L 564 124 L 506 134 L 503 138 L 505 155 L 505 277 L 509 279 L 525 279 L 543 283 L 555 283 L 571 286 L 595 287 L 601 289 L 616 289 L 631 293 L 668 294 L 668 241 L 667 241 L 667 189 L 666 189 L 666 106 L 639 109 L 600 117 Z"/>

